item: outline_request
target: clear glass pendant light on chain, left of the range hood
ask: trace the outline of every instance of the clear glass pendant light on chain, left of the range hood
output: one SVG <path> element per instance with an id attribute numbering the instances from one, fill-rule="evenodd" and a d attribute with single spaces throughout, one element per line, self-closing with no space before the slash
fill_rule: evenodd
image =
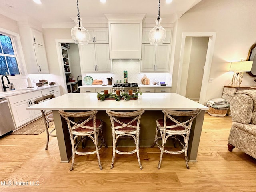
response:
<path id="1" fill-rule="evenodd" d="M 87 45 L 90 40 L 90 34 L 86 28 L 82 26 L 82 19 L 80 18 L 79 8 L 78 8 L 78 0 L 76 0 L 77 4 L 77 18 L 76 18 L 76 26 L 71 29 L 71 36 L 74 40 L 75 44 L 78 45 Z"/>

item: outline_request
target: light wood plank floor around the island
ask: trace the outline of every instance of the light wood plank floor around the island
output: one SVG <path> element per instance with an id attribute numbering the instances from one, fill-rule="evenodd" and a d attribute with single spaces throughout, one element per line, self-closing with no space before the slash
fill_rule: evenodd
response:
<path id="1" fill-rule="evenodd" d="M 40 135 L 8 135 L 0 139 L 0 192 L 234 192 L 256 191 L 256 160 L 237 148 L 229 152 L 227 139 L 231 118 L 205 114 L 198 162 L 186 168 L 184 154 L 164 154 L 157 169 L 158 148 L 140 148 L 143 169 L 136 154 L 116 155 L 110 169 L 112 147 L 100 150 L 103 170 L 96 154 L 76 156 L 61 163 L 57 139 L 51 137 L 48 150 L 45 132 Z M 10 182 L 10 185 L 4 185 Z M 18 183 L 16 183 L 18 182 Z M 29 182 L 20 186 L 20 182 Z M 34 186 L 30 185 L 33 184 Z M 38 185 L 36 185 L 38 184 Z"/>

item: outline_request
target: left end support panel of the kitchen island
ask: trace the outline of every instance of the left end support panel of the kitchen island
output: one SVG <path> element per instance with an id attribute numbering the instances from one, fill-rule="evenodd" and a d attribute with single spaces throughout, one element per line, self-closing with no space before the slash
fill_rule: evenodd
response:
<path id="1" fill-rule="evenodd" d="M 53 110 L 54 125 L 56 128 L 56 135 L 58 140 L 58 146 L 60 150 L 61 162 L 69 162 L 72 157 L 72 147 L 70 141 L 70 135 L 66 120 L 61 118 L 58 110 Z"/>

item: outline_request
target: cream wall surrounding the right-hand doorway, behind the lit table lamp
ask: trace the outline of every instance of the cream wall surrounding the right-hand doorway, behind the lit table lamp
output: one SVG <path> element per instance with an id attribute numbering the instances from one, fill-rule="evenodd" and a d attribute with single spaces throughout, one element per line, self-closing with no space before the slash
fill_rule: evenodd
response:
<path id="1" fill-rule="evenodd" d="M 216 32 L 206 101 L 222 96 L 224 85 L 232 79 L 230 62 L 246 60 L 249 48 L 256 41 L 255 0 L 202 0 L 177 22 L 172 92 L 177 90 L 182 33 Z M 174 25 L 176 26 L 176 25 Z M 242 85 L 255 85 L 253 77 L 244 74 Z"/>

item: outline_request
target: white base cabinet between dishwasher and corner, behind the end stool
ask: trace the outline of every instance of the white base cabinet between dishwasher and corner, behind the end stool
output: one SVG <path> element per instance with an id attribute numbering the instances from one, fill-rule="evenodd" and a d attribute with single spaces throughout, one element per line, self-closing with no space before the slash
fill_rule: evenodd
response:
<path id="1" fill-rule="evenodd" d="M 16 128 L 42 115 L 40 110 L 26 110 L 27 107 L 34 105 L 33 100 L 40 96 L 41 92 L 35 91 L 8 98 Z"/>

